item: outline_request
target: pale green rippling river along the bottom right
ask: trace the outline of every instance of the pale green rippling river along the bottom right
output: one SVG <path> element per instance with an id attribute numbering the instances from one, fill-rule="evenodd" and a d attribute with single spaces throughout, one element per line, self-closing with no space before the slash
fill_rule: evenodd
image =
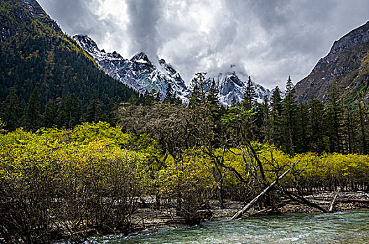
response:
<path id="1" fill-rule="evenodd" d="M 214 220 L 86 243 L 369 243 L 369 210 Z"/>

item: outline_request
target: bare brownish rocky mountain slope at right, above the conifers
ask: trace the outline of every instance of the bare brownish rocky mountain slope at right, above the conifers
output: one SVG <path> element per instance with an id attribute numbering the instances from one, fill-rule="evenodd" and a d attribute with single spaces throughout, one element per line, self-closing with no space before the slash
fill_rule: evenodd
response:
<path id="1" fill-rule="evenodd" d="M 360 93 L 368 96 L 368 83 L 369 22 L 337 40 L 329 54 L 319 60 L 295 89 L 299 102 L 309 100 L 310 96 L 324 102 L 334 85 L 349 104 L 357 100 Z"/>

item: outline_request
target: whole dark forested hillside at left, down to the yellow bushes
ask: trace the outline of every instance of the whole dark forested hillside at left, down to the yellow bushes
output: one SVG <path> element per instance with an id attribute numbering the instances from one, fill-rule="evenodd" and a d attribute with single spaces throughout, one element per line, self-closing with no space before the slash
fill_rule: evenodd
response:
<path id="1" fill-rule="evenodd" d="M 38 111 L 33 112 L 44 115 L 36 128 L 73 126 L 91 120 L 84 113 L 93 102 L 98 102 L 96 114 L 102 117 L 114 104 L 138 97 L 105 75 L 35 0 L 1 0 L 0 31 L 0 116 L 9 129 L 35 126 L 24 124 L 24 109 L 31 106 L 35 92 L 38 105 L 33 108 Z"/>

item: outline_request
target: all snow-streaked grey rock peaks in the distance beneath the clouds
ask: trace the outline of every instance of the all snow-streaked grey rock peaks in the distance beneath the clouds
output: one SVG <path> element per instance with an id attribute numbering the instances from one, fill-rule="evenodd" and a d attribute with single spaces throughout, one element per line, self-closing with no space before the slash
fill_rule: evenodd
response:
<path id="1" fill-rule="evenodd" d="M 114 79 L 119 79 L 140 93 L 155 89 L 163 98 L 170 84 L 176 96 L 179 96 L 183 102 L 188 102 L 190 90 L 183 82 L 181 75 L 164 59 L 160 59 L 158 67 L 156 67 L 144 52 L 140 52 L 128 60 L 123 59 L 116 52 L 106 53 L 104 50 L 100 50 L 98 45 L 88 36 L 77 35 L 73 38 L 95 59 L 100 68 Z M 222 105 L 231 105 L 233 98 L 236 98 L 238 102 L 243 100 L 247 84 L 245 75 L 220 73 L 218 77 L 209 77 L 207 89 L 210 88 L 213 79 L 216 81 L 219 91 L 218 98 Z M 257 94 L 257 102 L 262 102 L 264 96 L 271 97 L 271 91 L 259 84 L 253 83 L 253 85 Z"/>

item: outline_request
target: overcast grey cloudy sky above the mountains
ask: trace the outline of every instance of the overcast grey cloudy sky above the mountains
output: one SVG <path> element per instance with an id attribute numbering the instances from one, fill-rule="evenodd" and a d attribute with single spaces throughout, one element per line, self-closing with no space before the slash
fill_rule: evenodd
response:
<path id="1" fill-rule="evenodd" d="M 86 34 L 125 58 L 146 52 L 193 74 L 231 64 L 284 89 L 369 20 L 368 0 L 37 0 L 70 36 Z"/>

